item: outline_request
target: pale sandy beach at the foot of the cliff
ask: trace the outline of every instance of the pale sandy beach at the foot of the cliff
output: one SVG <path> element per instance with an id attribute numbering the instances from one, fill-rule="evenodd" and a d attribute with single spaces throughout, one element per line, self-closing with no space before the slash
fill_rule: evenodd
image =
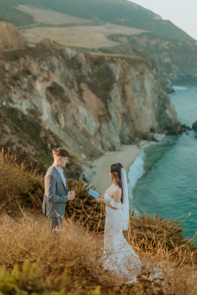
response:
<path id="1" fill-rule="evenodd" d="M 96 190 L 102 194 L 111 185 L 109 177 L 109 168 L 113 163 L 121 163 L 128 173 L 129 167 L 140 154 L 141 146 L 148 143 L 148 140 L 141 140 L 136 145 L 122 145 L 121 150 L 106 152 L 105 155 L 101 156 L 93 162 L 93 170 L 96 171 L 91 186 L 96 186 Z"/>

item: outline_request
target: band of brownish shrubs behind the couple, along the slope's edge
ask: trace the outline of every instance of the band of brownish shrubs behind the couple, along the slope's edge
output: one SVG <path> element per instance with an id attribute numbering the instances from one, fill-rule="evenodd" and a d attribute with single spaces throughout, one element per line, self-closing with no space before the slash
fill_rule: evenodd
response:
<path id="1" fill-rule="evenodd" d="M 9 155 L 3 149 L 0 152 L 0 212 L 14 216 L 18 204 L 31 208 L 42 208 L 44 194 L 44 177 L 38 169 L 31 165 L 18 164 L 15 154 Z M 66 216 L 78 220 L 89 230 L 103 232 L 105 225 L 105 207 L 88 194 L 89 186 L 82 181 L 67 179 L 69 190 L 76 190 L 76 198 L 66 205 Z M 17 210 L 15 208 L 17 207 Z M 125 237 L 132 247 L 141 248 L 146 253 L 155 255 L 162 251 L 163 258 L 167 255 L 171 260 L 182 261 L 190 265 L 197 264 L 197 246 L 193 240 L 184 236 L 183 224 L 178 221 L 164 220 L 156 215 L 153 217 L 131 215 L 129 231 Z M 192 257 L 192 259 L 191 259 Z"/>

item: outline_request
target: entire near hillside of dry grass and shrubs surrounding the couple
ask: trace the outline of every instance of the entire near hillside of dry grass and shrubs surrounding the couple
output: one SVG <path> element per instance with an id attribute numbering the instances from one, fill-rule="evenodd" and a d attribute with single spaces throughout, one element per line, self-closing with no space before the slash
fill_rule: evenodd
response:
<path id="1" fill-rule="evenodd" d="M 68 180 L 77 197 L 67 204 L 63 231 L 56 237 L 41 210 L 22 209 L 41 208 L 43 176 L 38 170 L 18 164 L 14 154 L 2 150 L 0 175 L 0 295 L 197 293 L 197 247 L 184 237 L 178 221 L 131 215 L 124 234 L 144 267 L 138 283 L 125 284 L 100 265 L 105 211 L 88 197 L 88 186 Z"/>

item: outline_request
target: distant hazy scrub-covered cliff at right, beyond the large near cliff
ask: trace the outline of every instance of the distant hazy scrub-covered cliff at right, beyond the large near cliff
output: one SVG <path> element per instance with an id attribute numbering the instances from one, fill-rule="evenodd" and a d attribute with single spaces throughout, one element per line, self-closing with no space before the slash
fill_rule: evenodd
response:
<path id="1" fill-rule="evenodd" d="M 111 41 L 124 40 L 125 53 L 128 44 L 136 51 L 137 55 L 149 60 L 148 53 L 162 66 L 165 73 L 172 78 L 197 76 L 197 41 L 182 40 L 153 33 L 126 36 L 110 35 Z"/>

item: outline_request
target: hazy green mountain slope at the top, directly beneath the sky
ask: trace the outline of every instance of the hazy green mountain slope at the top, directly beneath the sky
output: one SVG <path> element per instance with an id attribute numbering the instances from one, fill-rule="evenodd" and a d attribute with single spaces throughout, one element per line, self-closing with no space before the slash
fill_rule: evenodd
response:
<path id="1" fill-rule="evenodd" d="M 38 0 L 38 2 L 56 11 L 78 17 L 92 19 L 97 17 L 105 22 L 182 39 L 192 39 L 172 22 L 162 20 L 152 11 L 126 0 L 56 0 L 55 2 L 53 0 Z"/>

